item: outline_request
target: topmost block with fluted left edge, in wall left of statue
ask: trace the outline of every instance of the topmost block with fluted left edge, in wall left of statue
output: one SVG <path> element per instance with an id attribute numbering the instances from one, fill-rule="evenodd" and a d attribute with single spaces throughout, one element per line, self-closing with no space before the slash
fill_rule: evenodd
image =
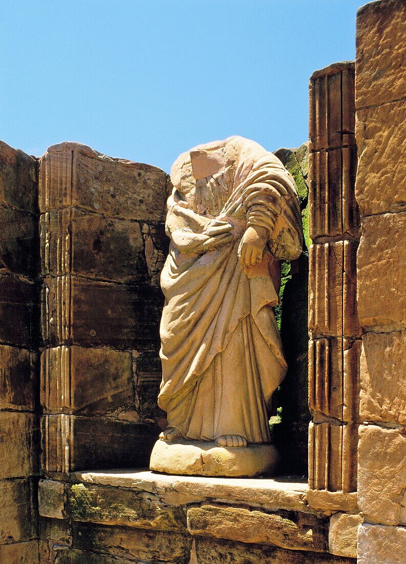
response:
<path id="1" fill-rule="evenodd" d="M 79 143 L 49 147 L 40 159 L 41 212 L 77 206 L 110 217 L 163 221 L 168 196 L 163 170 L 111 158 Z"/>

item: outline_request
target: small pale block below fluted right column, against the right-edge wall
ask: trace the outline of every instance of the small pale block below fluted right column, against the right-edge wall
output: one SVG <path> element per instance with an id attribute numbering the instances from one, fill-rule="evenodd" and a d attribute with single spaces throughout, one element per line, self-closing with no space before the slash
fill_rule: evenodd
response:
<path id="1" fill-rule="evenodd" d="M 356 539 L 361 523 L 362 517 L 358 514 L 334 513 L 328 528 L 329 552 L 356 558 Z"/>

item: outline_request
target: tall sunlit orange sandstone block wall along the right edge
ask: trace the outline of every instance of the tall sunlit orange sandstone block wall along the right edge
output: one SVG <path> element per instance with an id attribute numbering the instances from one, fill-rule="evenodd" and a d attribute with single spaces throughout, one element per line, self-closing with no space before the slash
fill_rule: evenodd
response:
<path id="1" fill-rule="evenodd" d="M 406 561 L 406 5 L 360 8 L 356 199 L 362 218 L 358 496 L 362 564 Z"/>

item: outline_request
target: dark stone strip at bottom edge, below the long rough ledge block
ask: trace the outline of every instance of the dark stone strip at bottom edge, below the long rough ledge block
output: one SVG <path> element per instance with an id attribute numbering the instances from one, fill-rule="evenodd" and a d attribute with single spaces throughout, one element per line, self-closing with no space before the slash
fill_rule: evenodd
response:
<path id="1" fill-rule="evenodd" d="M 238 543 L 231 540 L 196 537 L 198 564 L 354 564 L 353 558 L 320 552 L 286 550 L 269 545 Z"/>

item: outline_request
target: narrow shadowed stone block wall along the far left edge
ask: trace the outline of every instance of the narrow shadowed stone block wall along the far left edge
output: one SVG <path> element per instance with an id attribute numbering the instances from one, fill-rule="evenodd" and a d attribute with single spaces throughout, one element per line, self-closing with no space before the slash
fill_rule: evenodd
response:
<path id="1" fill-rule="evenodd" d="M 37 161 L 0 142 L 0 562 L 38 562 Z"/>

